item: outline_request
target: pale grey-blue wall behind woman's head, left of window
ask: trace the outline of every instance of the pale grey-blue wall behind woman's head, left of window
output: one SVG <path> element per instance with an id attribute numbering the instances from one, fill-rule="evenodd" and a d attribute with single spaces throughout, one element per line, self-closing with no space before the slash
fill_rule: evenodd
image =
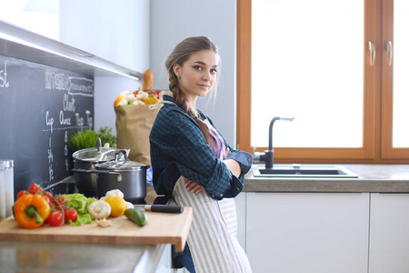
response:
<path id="1" fill-rule="evenodd" d="M 206 35 L 218 45 L 222 69 L 215 104 L 199 99 L 197 106 L 235 147 L 235 1 L 155 0 L 151 1 L 150 10 L 150 64 L 155 88 L 168 88 L 165 59 L 180 41 Z"/>

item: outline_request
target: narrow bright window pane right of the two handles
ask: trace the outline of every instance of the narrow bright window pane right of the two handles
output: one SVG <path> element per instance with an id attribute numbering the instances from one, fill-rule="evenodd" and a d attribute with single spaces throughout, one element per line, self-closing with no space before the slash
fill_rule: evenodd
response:
<path id="1" fill-rule="evenodd" d="M 409 147 L 409 3 L 394 0 L 394 122 L 393 147 Z"/>

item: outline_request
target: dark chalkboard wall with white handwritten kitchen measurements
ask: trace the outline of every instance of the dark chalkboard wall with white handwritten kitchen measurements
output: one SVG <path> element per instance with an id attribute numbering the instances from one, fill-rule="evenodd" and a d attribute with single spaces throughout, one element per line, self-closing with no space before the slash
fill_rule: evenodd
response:
<path id="1" fill-rule="evenodd" d="M 0 159 L 14 160 L 15 195 L 70 177 L 69 136 L 93 127 L 92 76 L 0 56 Z"/>

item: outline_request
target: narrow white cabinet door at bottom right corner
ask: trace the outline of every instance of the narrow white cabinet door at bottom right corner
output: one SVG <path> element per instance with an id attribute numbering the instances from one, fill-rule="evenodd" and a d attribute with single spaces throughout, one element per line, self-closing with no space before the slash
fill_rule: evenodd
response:
<path id="1" fill-rule="evenodd" d="M 371 194 L 369 273 L 409 270 L 409 194 Z"/>

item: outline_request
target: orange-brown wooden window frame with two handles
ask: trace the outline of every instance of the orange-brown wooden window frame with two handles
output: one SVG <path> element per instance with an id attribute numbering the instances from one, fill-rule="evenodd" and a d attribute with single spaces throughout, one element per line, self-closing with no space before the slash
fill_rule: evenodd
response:
<path id="1" fill-rule="evenodd" d="M 274 162 L 409 163 L 409 148 L 392 147 L 393 75 L 392 66 L 383 62 L 386 58 L 384 40 L 393 41 L 393 0 L 364 0 L 364 7 L 363 147 L 275 147 Z M 252 1 L 237 0 L 236 147 L 249 153 L 254 152 L 250 133 L 251 23 Z M 374 66 L 370 66 L 369 41 L 374 42 L 376 48 Z M 266 146 L 257 147 L 256 151 L 264 152 Z"/>

